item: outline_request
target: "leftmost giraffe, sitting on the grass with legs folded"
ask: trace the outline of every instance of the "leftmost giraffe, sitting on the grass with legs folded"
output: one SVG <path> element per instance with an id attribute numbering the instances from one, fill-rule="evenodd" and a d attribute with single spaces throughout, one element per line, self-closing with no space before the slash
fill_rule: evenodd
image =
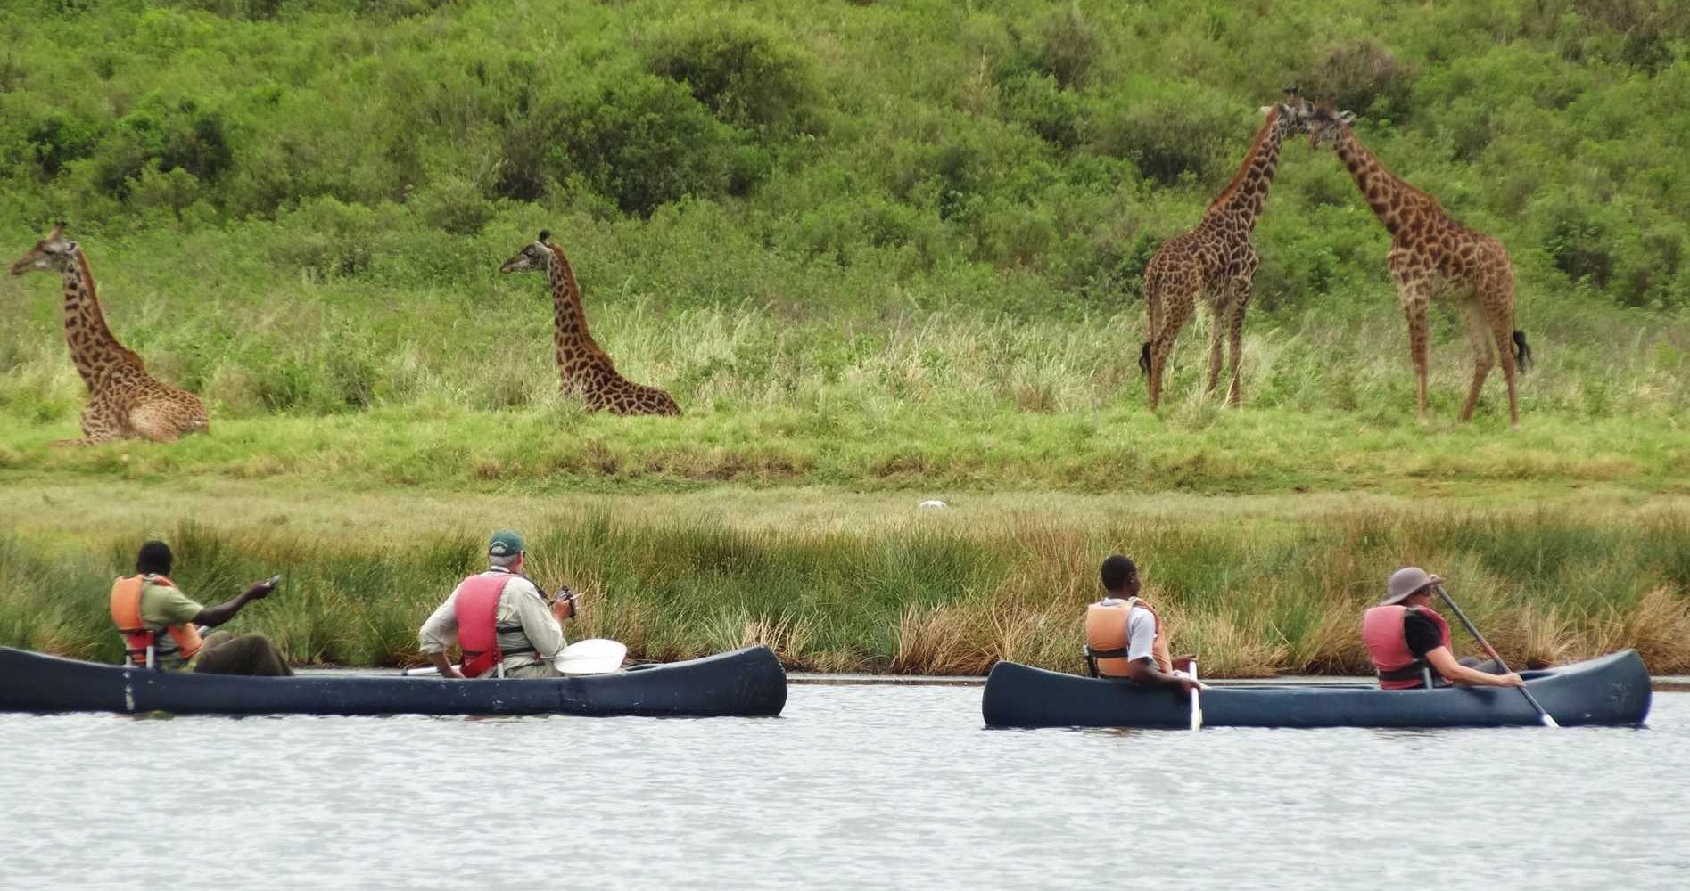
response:
<path id="1" fill-rule="evenodd" d="M 12 263 L 12 275 L 52 270 L 64 278 L 64 341 L 76 373 L 88 385 L 83 437 L 54 446 L 90 446 L 125 437 L 174 442 L 184 434 L 206 430 L 210 422 L 199 397 L 149 375 L 140 356 L 112 336 L 100 312 L 88 256 L 64 236 L 64 223 Z"/>

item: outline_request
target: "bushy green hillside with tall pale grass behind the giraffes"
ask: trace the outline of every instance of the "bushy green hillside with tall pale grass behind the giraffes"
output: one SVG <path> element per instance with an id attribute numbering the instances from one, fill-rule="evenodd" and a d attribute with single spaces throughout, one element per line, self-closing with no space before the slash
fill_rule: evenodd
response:
<path id="1" fill-rule="evenodd" d="M 622 368 L 691 412 L 1137 410 L 1141 270 L 1298 83 L 1509 246 L 1543 344 L 1528 424 L 1668 434 L 1687 27 L 1621 0 L 24 0 L 0 20 L 0 233 L 22 251 L 71 219 L 118 336 L 223 420 L 549 413 L 542 287 L 495 275 L 542 226 Z M 1330 152 L 1286 147 L 1257 241 L 1249 405 L 1409 413 L 1386 235 Z M 56 294 L 0 284 L 24 321 L 0 412 L 52 427 L 27 444 L 81 398 Z M 1435 327 L 1448 413 L 1465 343 Z"/>

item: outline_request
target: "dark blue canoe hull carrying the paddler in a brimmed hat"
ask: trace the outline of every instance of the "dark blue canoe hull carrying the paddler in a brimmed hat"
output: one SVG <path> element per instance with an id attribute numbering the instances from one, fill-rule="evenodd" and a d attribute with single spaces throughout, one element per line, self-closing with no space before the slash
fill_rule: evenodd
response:
<path id="1" fill-rule="evenodd" d="M 1563 727 L 1638 726 L 1649 716 L 1649 672 L 1634 650 L 1560 668 L 1524 672 L 1526 685 Z M 1518 690 L 1374 685 L 1212 687 L 1202 694 L 1205 727 L 1497 727 L 1538 724 Z M 1188 729 L 1190 700 L 1163 688 L 1097 680 L 999 662 L 980 702 L 989 727 Z"/>

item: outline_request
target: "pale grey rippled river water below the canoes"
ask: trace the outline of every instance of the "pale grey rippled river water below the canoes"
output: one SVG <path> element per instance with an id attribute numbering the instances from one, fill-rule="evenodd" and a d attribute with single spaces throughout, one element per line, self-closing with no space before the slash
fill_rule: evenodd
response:
<path id="1" fill-rule="evenodd" d="M 980 690 L 779 719 L 0 716 L 0 888 L 1690 888 L 1648 729 L 985 731 Z"/>

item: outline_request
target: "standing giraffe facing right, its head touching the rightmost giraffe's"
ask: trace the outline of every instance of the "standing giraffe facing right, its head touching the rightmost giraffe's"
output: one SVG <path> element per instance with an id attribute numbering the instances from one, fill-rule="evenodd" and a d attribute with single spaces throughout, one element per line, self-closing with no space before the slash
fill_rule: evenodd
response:
<path id="1" fill-rule="evenodd" d="M 1232 182 L 1215 196 L 1195 230 L 1163 241 L 1144 267 L 1144 312 L 1149 331 L 1139 349 L 1139 368 L 1149 376 L 1151 410 L 1161 403 L 1163 368 L 1180 329 L 1202 302 L 1213 324 L 1208 329 L 1208 385 L 1220 378 L 1220 338 L 1232 351 L 1232 385 L 1227 402 L 1242 405 L 1239 359 L 1244 339 L 1244 310 L 1251 302 L 1251 278 L 1261 262 L 1251 245 L 1256 219 L 1268 204 L 1268 189 L 1279 164 L 1279 145 L 1301 130 L 1310 103 L 1288 88 L 1284 101 L 1262 108 L 1266 120 Z"/>

